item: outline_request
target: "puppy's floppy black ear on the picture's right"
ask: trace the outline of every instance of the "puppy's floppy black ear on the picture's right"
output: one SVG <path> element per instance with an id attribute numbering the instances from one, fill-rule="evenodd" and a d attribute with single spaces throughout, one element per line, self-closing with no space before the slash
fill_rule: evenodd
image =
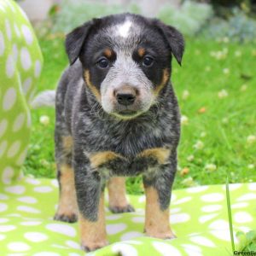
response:
<path id="1" fill-rule="evenodd" d="M 183 52 L 185 48 L 184 38 L 181 32 L 178 32 L 177 29 L 173 26 L 167 26 L 162 23 L 160 20 L 156 20 L 157 26 L 160 28 L 160 31 L 164 34 L 167 42 L 171 48 L 172 55 L 174 55 L 177 63 L 181 65 Z"/>

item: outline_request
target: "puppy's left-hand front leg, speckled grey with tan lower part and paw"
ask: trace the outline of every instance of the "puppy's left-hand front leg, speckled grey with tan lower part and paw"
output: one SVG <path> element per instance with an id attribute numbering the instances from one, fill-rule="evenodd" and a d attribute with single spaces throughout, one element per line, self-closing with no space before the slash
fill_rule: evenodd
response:
<path id="1" fill-rule="evenodd" d="M 81 245 L 85 251 L 94 251 L 108 244 L 103 185 L 99 172 L 91 170 L 89 162 L 74 158 L 74 169 Z"/>

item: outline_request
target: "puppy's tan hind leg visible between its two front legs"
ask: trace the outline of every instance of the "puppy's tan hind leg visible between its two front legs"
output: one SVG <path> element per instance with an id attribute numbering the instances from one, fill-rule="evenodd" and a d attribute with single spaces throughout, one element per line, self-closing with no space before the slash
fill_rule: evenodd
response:
<path id="1" fill-rule="evenodd" d="M 111 212 L 134 212 L 134 208 L 128 203 L 125 194 L 125 177 L 110 178 L 108 182 L 108 198 Z"/>

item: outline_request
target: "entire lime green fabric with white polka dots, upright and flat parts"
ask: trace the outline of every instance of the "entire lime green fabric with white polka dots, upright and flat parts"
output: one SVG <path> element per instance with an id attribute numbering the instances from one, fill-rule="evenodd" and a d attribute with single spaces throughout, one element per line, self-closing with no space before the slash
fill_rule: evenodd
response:
<path id="1" fill-rule="evenodd" d="M 84 255 L 78 224 L 53 220 L 56 180 L 20 175 L 31 126 L 28 105 L 41 66 L 26 15 L 15 2 L 0 0 L 0 256 Z M 256 183 L 231 184 L 230 195 L 234 232 L 255 229 Z M 232 254 L 224 185 L 173 191 L 173 240 L 144 236 L 145 196 L 131 195 L 129 200 L 136 212 L 113 214 L 106 207 L 110 244 L 88 255 Z"/>

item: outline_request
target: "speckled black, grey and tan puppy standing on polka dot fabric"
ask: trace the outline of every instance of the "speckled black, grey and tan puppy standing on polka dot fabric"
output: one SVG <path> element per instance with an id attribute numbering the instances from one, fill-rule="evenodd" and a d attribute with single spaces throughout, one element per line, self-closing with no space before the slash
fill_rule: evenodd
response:
<path id="1" fill-rule="evenodd" d="M 94 19 L 67 35 L 70 61 L 56 91 L 55 159 L 60 201 L 55 219 L 79 218 L 81 245 L 108 244 L 103 193 L 112 212 L 131 212 L 125 177 L 143 176 L 146 235 L 173 238 L 171 189 L 180 115 L 170 84 L 181 64 L 180 32 L 140 15 Z"/>

